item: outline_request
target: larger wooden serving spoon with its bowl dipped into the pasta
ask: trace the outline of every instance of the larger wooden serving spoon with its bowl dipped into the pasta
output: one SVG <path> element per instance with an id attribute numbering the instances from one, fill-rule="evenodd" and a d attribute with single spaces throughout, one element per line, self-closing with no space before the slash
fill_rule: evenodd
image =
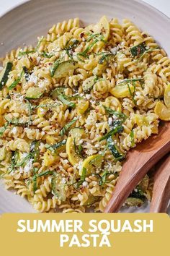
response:
<path id="1" fill-rule="evenodd" d="M 170 123 L 165 122 L 160 126 L 158 135 L 149 137 L 148 140 L 128 152 L 115 191 L 104 213 L 118 212 L 143 176 L 169 151 Z"/>

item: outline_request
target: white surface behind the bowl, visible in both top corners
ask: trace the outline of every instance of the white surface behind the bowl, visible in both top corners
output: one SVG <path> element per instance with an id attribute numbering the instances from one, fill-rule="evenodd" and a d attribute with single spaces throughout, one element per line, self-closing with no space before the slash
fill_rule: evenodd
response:
<path id="1" fill-rule="evenodd" d="M 27 0 L 0 0 L 0 16 Z M 33 0 L 32 0 L 33 1 Z M 57 0 L 56 0 L 57 1 Z M 63 0 L 64 1 L 64 0 Z M 128 0 L 127 0 L 128 1 Z M 170 0 L 143 0 L 170 17 Z"/>

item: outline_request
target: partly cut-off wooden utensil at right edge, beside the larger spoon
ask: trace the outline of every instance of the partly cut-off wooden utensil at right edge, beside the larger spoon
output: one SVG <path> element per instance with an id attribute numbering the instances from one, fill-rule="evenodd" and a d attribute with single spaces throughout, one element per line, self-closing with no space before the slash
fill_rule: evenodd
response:
<path id="1" fill-rule="evenodd" d="M 156 167 L 150 212 L 166 213 L 170 199 L 170 155 Z"/>

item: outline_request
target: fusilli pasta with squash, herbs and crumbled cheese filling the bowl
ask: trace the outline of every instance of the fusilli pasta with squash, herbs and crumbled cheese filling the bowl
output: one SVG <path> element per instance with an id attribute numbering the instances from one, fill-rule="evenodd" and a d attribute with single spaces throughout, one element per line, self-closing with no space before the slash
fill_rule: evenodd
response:
<path id="1" fill-rule="evenodd" d="M 170 120 L 170 60 L 130 20 L 58 23 L 2 59 L 0 174 L 40 212 L 102 212 L 126 153 Z M 145 176 L 126 200 L 151 200 Z"/>

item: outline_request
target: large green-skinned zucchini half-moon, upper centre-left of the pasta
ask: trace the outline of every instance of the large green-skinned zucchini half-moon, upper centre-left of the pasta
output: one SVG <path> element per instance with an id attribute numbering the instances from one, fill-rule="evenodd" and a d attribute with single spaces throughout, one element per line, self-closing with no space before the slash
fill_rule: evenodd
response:
<path id="1" fill-rule="evenodd" d="M 68 72 L 76 69 L 77 63 L 76 61 L 63 61 L 58 64 L 58 67 L 55 69 L 55 77 L 65 77 Z"/>

